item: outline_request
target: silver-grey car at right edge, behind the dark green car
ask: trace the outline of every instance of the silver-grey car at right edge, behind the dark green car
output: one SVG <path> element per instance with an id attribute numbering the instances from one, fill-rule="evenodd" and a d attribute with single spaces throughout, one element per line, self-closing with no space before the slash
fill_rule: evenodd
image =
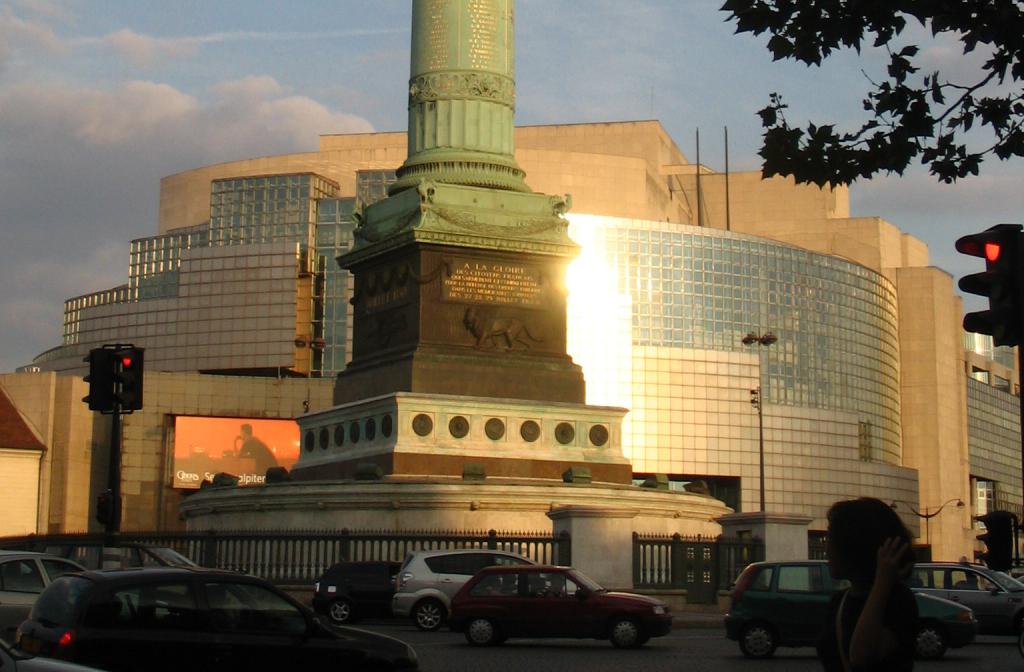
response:
<path id="1" fill-rule="evenodd" d="M 908 585 L 914 592 L 974 610 L 978 634 L 1015 635 L 1021 630 L 1024 584 L 1001 572 L 968 562 L 919 562 Z"/>

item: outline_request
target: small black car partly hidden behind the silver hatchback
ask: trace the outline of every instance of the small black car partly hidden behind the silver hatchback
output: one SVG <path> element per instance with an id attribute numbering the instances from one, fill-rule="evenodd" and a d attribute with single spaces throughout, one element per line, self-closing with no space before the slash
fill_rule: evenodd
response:
<path id="1" fill-rule="evenodd" d="M 313 611 L 339 625 L 375 614 L 390 616 L 399 569 L 401 562 L 338 562 L 316 580 Z"/>

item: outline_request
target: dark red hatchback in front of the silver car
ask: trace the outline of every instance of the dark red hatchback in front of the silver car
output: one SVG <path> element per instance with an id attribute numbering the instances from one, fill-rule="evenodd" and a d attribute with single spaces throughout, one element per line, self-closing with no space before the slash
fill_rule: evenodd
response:
<path id="1" fill-rule="evenodd" d="M 578 637 L 635 648 L 667 635 L 672 615 L 658 599 L 609 592 L 572 568 L 511 565 L 481 570 L 466 582 L 452 599 L 449 624 L 475 646 Z"/>

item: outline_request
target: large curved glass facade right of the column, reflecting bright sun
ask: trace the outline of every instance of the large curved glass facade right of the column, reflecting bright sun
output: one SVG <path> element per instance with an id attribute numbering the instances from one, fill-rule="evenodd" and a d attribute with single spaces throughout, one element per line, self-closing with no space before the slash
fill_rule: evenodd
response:
<path id="1" fill-rule="evenodd" d="M 899 464 L 897 302 L 887 279 L 843 259 L 718 229 L 591 215 L 569 221 L 573 239 L 600 255 L 588 275 L 613 279 L 616 304 L 629 306 L 634 358 L 753 354 L 766 407 L 853 414 L 861 459 Z M 600 309 L 608 317 L 614 307 Z M 743 345 L 752 331 L 770 331 L 778 341 Z M 652 378 L 633 370 L 632 394 L 594 403 L 637 408 L 638 394 L 678 393 L 672 367 Z M 585 373 L 589 385 L 592 371 L 585 366 Z"/>

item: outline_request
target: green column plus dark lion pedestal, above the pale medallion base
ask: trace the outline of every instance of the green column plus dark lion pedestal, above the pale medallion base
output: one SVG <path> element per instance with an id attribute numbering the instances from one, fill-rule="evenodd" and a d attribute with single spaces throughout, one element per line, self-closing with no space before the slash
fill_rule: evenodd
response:
<path id="1" fill-rule="evenodd" d="M 567 197 L 513 156 L 511 0 L 416 0 L 409 158 L 339 262 L 355 279 L 335 403 L 394 391 L 584 402 L 565 352 Z"/>

